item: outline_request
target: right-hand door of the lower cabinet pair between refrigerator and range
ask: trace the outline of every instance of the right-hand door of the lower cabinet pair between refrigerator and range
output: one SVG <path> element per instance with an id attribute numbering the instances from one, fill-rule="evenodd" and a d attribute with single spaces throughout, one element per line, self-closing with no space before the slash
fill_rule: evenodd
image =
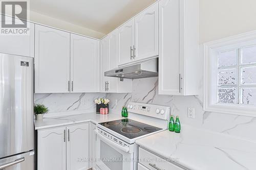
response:
<path id="1" fill-rule="evenodd" d="M 67 127 L 67 169 L 89 169 L 89 123 Z"/>

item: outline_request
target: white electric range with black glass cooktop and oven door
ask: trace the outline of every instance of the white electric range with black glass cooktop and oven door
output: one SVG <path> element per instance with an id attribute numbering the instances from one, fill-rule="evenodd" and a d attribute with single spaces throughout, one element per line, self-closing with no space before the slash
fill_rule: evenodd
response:
<path id="1" fill-rule="evenodd" d="M 169 107 L 130 102 L 127 111 L 128 118 L 96 125 L 98 161 L 95 169 L 137 169 L 138 145 L 135 141 L 168 127 Z"/>

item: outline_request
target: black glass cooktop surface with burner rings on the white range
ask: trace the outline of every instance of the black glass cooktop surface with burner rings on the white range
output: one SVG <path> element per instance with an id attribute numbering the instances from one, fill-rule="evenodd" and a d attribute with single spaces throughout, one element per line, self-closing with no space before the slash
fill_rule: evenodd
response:
<path id="1" fill-rule="evenodd" d="M 129 118 L 103 122 L 99 123 L 99 125 L 113 130 L 129 139 L 162 130 L 161 128 L 143 124 Z"/>

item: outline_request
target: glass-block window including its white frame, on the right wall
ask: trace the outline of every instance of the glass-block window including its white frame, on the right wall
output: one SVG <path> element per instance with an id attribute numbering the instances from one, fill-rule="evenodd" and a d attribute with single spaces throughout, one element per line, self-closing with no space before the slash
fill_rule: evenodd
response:
<path id="1" fill-rule="evenodd" d="M 204 110 L 256 116 L 256 32 L 204 44 Z"/>

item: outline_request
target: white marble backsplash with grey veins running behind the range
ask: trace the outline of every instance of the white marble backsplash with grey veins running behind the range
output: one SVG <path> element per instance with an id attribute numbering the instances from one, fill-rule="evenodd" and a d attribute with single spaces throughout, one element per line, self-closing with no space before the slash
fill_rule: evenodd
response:
<path id="1" fill-rule="evenodd" d="M 182 124 L 256 141 L 256 117 L 203 111 L 202 82 L 200 95 L 174 96 L 158 94 L 158 78 L 133 80 L 132 93 L 45 93 L 34 94 L 34 102 L 45 104 L 45 116 L 95 112 L 94 99 L 109 98 L 110 113 L 120 114 L 128 102 L 169 106 L 172 114 L 179 115 Z M 117 100 L 117 105 L 115 105 Z M 195 118 L 187 118 L 187 108 L 195 108 Z"/>

